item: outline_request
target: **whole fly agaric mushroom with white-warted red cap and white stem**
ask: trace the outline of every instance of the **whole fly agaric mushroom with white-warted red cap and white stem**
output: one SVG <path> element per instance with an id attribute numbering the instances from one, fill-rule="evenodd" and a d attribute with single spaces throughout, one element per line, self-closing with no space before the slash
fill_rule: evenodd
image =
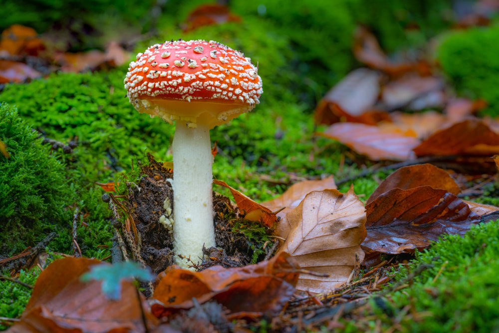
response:
<path id="1" fill-rule="evenodd" d="M 196 263 L 203 246 L 216 246 L 210 129 L 258 104 L 261 78 L 243 53 L 205 40 L 153 45 L 128 70 L 124 83 L 135 109 L 176 121 L 174 251 Z M 177 264 L 187 267 L 187 260 Z"/>

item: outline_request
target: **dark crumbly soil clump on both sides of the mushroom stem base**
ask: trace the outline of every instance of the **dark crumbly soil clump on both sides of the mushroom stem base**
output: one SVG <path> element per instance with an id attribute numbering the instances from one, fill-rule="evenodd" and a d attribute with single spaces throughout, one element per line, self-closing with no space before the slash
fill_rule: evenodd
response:
<path id="1" fill-rule="evenodd" d="M 140 256 L 153 273 L 159 274 L 174 264 L 173 233 L 160 222 L 160 219 L 173 217 L 173 210 L 168 209 L 174 209 L 171 207 L 173 172 L 150 154 L 147 157 L 147 164 L 139 162 L 140 180 L 137 183 L 127 182 L 126 193 L 118 194 L 126 196 L 121 204 L 135 223 Z M 195 268 L 203 270 L 215 265 L 230 268 L 250 264 L 253 255 L 250 243 L 244 235 L 232 232 L 235 221 L 238 221 L 237 209 L 229 198 L 215 193 L 213 208 L 217 248 L 203 249 L 204 260 Z M 133 249 L 130 252 L 133 253 Z"/>

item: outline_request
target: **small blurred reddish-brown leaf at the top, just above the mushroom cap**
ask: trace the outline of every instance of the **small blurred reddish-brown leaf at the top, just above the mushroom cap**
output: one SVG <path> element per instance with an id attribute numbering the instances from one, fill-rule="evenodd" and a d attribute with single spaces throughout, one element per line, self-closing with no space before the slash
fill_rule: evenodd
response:
<path id="1" fill-rule="evenodd" d="M 204 25 L 240 21 L 241 18 L 231 13 L 228 6 L 216 3 L 202 4 L 187 16 L 187 26 L 184 32 L 195 30 Z"/>

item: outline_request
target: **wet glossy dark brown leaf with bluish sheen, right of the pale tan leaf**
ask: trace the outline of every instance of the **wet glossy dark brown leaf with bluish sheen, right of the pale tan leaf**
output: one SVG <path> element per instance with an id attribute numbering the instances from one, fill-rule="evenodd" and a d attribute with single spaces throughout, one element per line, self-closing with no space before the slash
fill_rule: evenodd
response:
<path id="1" fill-rule="evenodd" d="M 464 235 L 480 217 L 446 190 L 420 186 L 392 189 L 366 205 L 368 253 L 399 254 L 421 250 L 444 234 Z"/>

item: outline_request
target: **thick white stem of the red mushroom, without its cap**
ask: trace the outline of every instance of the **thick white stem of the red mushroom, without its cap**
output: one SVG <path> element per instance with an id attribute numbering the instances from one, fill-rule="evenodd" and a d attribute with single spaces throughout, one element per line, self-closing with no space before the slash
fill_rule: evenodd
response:
<path id="1" fill-rule="evenodd" d="M 203 258 L 203 245 L 215 246 L 210 128 L 200 123 L 190 128 L 177 120 L 172 147 L 174 251 L 197 263 Z M 184 268 L 189 264 L 179 257 L 176 262 Z"/>

